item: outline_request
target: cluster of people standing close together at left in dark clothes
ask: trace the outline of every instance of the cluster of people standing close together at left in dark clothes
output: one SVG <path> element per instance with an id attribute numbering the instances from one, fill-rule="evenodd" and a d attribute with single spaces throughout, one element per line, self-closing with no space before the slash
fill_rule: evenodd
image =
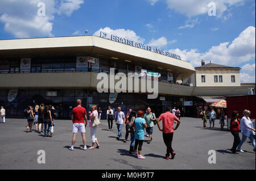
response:
<path id="1" fill-rule="evenodd" d="M 28 106 L 24 113 L 27 119 L 27 133 L 32 132 L 32 127 L 35 126 L 35 132 L 44 133 L 44 137 L 53 136 L 53 127 L 55 125 L 53 122 L 55 108 L 53 106 L 44 104 L 36 105 L 35 108 Z"/>

